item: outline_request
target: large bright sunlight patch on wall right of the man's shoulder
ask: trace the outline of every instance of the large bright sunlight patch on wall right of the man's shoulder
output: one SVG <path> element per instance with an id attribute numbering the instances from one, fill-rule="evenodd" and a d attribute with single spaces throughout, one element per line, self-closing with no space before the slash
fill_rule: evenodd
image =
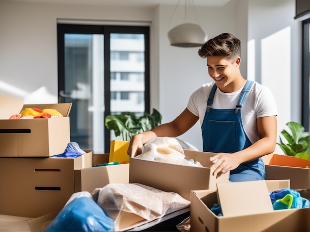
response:
<path id="1" fill-rule="evenodd" d="M 291 29 L 261 41 L 261 81 L 273 92 L 278 108 L 278 134 L 291 120 Z"/>

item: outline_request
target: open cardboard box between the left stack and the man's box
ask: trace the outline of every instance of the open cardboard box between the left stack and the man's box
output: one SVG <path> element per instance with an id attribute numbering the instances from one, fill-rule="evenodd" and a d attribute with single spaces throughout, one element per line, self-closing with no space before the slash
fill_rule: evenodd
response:
<path id="1" fill-rule="evenodd" d="M 106 164 L 109 154 L 94 154 L 93 165 Z M 129 163 L 74 170 L 74 192 L 91 192 L 109 183 L 128 183 Z"/>

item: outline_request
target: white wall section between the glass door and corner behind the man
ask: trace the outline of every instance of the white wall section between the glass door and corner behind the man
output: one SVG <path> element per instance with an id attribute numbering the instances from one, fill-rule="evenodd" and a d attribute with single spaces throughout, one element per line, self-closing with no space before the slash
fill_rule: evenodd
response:
<path id="1" fill-rule="evenodd" d="M 163 122 L 169 122 L 185 108 L 192 92 L 202 84 L 212 81 L 207 71 L 207 60 L 198 55 L 198 49 L 170 46 L 167 33 L 177 24 L 184 22 L 184 17 L 171 15 L 174 6 L 160 6 L 159 15 L 159 103 Z M 222 32 L 235 34 L 235 2 L 224 7 L 197 7 L 199 24 L 211 39 Z M 218 17 L 220 15 L 220 17 Z M 170 20 L 171 24 L 170 25 Z M 192 21 L 195 22 L 195 21 Z M 174 24 L 173 24 L 174 23 Z M 236 35 L 238 36 L 238 35 Z M 202 150 L 202 137 L 199 122 L 181 139 Z"/>

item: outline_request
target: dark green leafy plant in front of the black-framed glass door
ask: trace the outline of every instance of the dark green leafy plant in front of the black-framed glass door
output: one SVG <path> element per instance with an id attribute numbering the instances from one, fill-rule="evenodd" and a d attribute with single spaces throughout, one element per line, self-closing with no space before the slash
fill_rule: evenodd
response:
<path id="1" fill-rule="evenodd" d="M 156 109 L 152 114 L 144 112 L 137 117 L 133 112 L 122 112 L 119 115 L 109 115 L 105 118 L 105 126 L 114 130 L 115 136 L 122 136 L 124 141 L 129 141 L 135 134 L 139 134 L 161 124 L 162 116 Z"/>

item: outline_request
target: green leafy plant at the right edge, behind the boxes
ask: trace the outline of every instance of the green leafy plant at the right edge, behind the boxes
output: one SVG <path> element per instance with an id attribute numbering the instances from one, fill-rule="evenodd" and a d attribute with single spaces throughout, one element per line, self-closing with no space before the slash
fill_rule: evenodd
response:
<path id="1" fill-rule="evenodd" d="M 277 143 L 285 155 L 294 156 L 309 160 L 309 133 L 297 122 L 286 123 L 291 133 L 282 130 L 281 134 L 286 139 L 284 143 L 280 137 L 280 143 Z"/>

